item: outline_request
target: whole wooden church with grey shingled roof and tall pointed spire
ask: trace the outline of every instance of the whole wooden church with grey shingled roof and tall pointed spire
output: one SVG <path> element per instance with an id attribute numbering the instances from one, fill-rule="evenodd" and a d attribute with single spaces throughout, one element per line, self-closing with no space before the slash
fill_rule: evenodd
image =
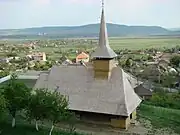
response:
<path id="1" fill-rule="evenodd" d="M 53 66 L 41 73 L 34 88 L 59 91 L 69 99 L 69 109 L 80 120 L 128 129 L 136 119 L 141 99 L 134 92 L 128 74 L 115 64 L 102 9 L 99 45 L 92 62 Z"/>

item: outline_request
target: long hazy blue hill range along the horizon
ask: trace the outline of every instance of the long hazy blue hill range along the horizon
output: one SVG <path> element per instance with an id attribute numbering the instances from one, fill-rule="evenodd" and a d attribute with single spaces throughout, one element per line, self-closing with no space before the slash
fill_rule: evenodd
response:
<path id="1" fill-rule="evenodd" d="M 108 34 L 111 37 L 119 36 L 152 36 L 152 35 L 173 35 L 173 32 L 158 26 L 127 26 L 118 24 L 107 24 Z M 59 27 L 39 27 L 26 29 L 0 30 L 1 38 L 6 37 L 97 37 L 99 34 L 99 24 L 89 24 L 83 26 L 59 26 Z"/>

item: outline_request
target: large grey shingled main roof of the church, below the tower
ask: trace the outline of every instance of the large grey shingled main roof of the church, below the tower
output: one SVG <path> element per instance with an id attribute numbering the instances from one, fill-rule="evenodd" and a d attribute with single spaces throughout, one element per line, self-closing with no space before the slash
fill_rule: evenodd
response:
<path id="1" fill-rule="evenodd" d="M 92 66 L 54 66 L 35 84 L 35 88 L 49 90 L 57 86 L 69 97 L 70 110 L 129 116 L 141 102 L 119 67 L 112 70 L 110 80 L 97 80 Z"/>

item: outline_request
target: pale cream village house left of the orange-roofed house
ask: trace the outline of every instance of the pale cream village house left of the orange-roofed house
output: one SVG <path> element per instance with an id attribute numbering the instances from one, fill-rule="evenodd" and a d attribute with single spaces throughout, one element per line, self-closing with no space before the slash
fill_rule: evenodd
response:
<path id="1" fill-rule="evenodd" d="M 45 52 L 33 52 L 32 54 L 27 55 L 27 57 L 35 61 L 46 61 Z"/>

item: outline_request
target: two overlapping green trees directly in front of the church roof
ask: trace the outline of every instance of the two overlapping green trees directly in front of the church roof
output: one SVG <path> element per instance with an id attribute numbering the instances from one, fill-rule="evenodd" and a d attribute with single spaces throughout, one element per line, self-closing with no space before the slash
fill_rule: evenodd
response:
<path id="1" fill-rule="evenodd" d="M 68 100 L 57 91 L 48 91 L 46 89 L 37 89 L 33 91 L 29 100 L 27 116 L 36 121 L 36 130 L 38 131 L 38 121 L 49 120 L 52 123 L 52 129 L 60 121 L 74 120 L 73 115 L 68 111 Z M 71 128 L 72 129 L 72 128 Z"/>

